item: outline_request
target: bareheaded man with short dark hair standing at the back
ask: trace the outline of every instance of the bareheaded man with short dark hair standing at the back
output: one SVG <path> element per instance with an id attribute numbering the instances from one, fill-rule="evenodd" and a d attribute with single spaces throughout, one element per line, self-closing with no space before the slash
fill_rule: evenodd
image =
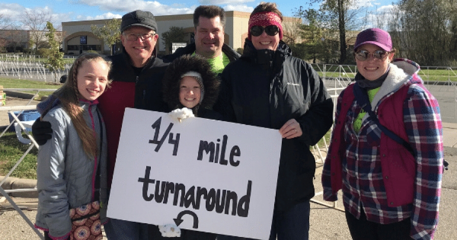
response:
<path id="1" fill-rule="evenodd" d="M 171 62 L 186 54 L 198 54 L 208 59 L 212 71 L 222 73 L 224 67 L 237 60 L 240 54 L 224 44 L 225 11 L 223 8 L 209 5 L 199 6 L 193 12 L 195 43 L 178 48 L 175 53 L 162 57 Z"/>

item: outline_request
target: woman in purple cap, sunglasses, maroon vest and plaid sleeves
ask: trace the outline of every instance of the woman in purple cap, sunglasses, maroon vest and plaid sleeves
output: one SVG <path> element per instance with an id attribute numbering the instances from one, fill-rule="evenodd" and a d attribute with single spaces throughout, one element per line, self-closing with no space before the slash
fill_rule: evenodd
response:
<path id="1" fill-rule="evenodd" d="M 358 33 L 355 83 L 338 97 L 323 198 L 343 192 L 352 239 L 433 239 L 443 171 L 436 98 L 388 32 Z M 368 113 L 368 114 L 367 114 Z"/>

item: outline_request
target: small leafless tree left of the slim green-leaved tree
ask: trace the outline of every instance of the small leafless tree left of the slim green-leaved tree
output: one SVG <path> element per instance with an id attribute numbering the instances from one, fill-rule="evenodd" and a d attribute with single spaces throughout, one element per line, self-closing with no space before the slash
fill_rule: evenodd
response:
<path id="1" fill-rule="evenodd" d="M 30 30 L 30 42 L 35 45 L 35 50 L 40 48 L 43 42 L 46 42 L 46 23 L 52 22 L 52 14 L 49 10 L 31 10 L 25 9 L 21 22 L 22 25 Z"/>

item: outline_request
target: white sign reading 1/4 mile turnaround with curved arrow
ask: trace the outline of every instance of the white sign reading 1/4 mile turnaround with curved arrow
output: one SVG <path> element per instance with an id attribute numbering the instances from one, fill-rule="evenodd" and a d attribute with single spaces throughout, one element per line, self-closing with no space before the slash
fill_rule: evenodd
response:
<path id="1" fill-rule="evenodd" d="M 108 217 L 268 239 L 278 130 L 125 109 Z"/>

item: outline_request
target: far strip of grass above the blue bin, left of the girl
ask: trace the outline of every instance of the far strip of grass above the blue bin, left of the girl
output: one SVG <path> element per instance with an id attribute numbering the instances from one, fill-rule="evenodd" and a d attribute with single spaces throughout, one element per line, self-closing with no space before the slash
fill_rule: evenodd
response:
<path id="1" fill-rule="evenodd" d="M 62 86 L 61 83 L 47 83 L 42 81 L 34 81 L 34 80 L 24 80 L 24 79 L 12 79 L 12 78 L 1 78 L 0 77 L 0 85 L 3 88 L 38 88 L 38 89 L 57 89 Z M 25 91 L 27 93 L 37 93 L 35 91 Z M 37 100 L 41 100 L 41 97 L 48 96 L 52 92 L 39 92 Z"/>

